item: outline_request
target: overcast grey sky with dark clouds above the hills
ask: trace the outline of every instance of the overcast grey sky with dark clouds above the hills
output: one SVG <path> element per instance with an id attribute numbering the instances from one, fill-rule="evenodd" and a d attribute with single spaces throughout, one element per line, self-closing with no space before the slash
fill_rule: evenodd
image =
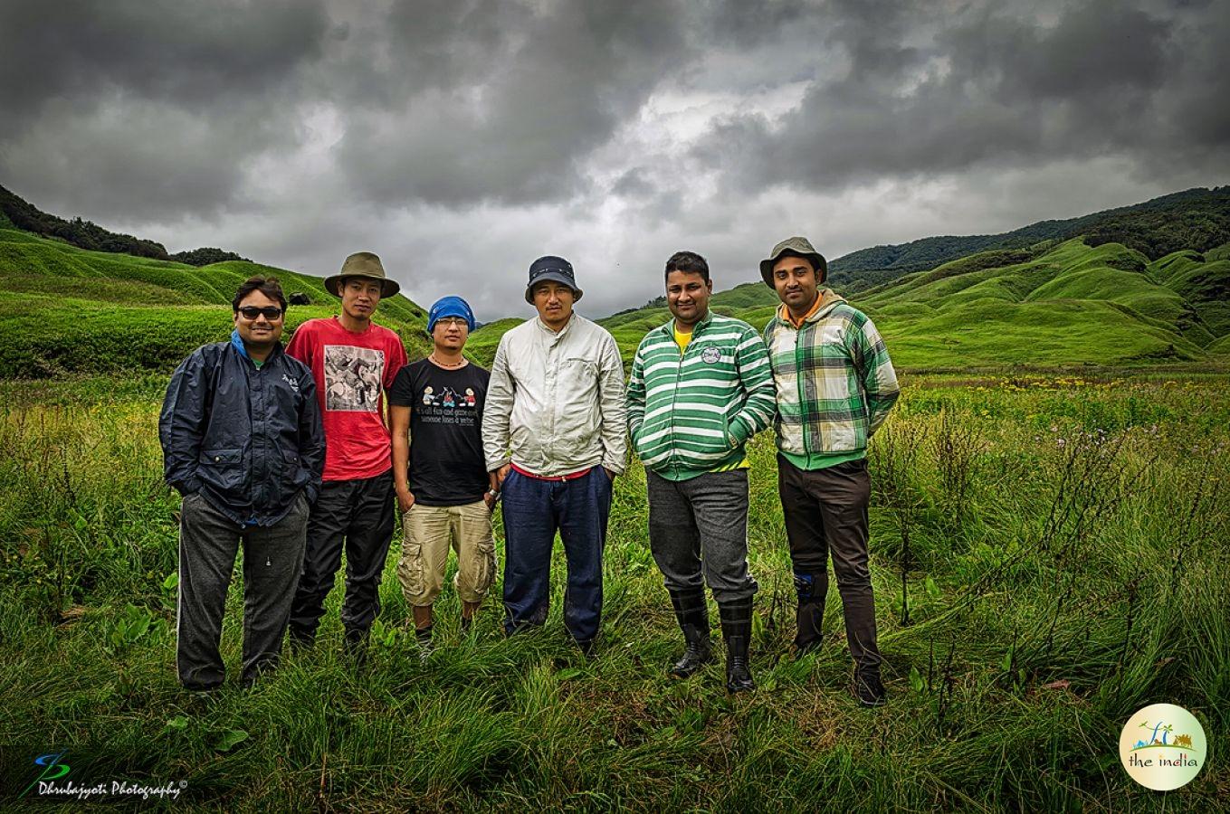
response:
<path id="1" fill-rule="evenodd" d="M 528 316 L 1230 183 L 1202 0 L 0 0 L 0 184 L 63 216 Z"/>

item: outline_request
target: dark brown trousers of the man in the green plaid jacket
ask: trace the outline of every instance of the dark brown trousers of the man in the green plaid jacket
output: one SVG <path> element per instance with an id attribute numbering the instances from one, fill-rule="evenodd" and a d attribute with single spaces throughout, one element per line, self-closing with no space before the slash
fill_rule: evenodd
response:
<path id="1" fill-rule="evenodd" d="M 800 607 L 813 606 L 823 614 L 831 555 L 850 655 L 860 670 L 878 670 L 876 601 L 871 594 L 867 555 L 867 504 L 871 502 L 867 460 L 807 471 L 779 454 L 777 491 L 790 539 Z M 815 621 L 818 626 L 819 620 Z M 800 630 L 796 644 L 802 647 L 809 643 L 806 633 Z"/>

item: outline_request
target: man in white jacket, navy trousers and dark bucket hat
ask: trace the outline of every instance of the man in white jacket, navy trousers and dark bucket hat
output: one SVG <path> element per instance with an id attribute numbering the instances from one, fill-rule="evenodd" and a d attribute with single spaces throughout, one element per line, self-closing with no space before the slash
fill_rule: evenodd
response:
<path id="1" fill-rule="evenodd" d="M 624 472 L 624 363 L 578 314 L 572 264 L 540 257 L 525 301 L 538 317 L 499 341 L 482 416 L 487 470 L 504 512 L 504 631 L 546 621 L 556 531 L 568 562 L 563 623 L 585 653 L 601 628 L 611 482 Z"/>

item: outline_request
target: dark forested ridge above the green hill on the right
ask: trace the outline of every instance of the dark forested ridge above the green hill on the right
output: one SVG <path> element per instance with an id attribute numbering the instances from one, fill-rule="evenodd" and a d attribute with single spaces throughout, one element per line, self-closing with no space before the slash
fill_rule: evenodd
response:
<path id="1" fill-rule="evenodd" d="M 1084 235 L 1090 246 L 1122 243 L 1149 259 L 1182 248 L 1204 252 L 1230 241 L 1230 187 L 1196 187 L 1081 218 L 1039 220 L 999 235 L 945 235 L 895 246 L 873 246 L 833 261 L 829 274 L 835 288 L 861 291 L 968 255 L 1025 248 L 1077 235 Z"/>

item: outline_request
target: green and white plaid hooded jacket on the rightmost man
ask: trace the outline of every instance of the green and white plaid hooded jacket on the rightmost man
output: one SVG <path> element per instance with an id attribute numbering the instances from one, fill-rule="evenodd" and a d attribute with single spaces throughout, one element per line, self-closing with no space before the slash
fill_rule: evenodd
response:
<path id="1" fill-rule="evenodd" d="M 900 395 L 867 315 L 829 289 L 820 298 L 801 328 L 782 305 L 764 332 L 777 385 L 777 448 L 793 461 L 866 452 Z"/>

